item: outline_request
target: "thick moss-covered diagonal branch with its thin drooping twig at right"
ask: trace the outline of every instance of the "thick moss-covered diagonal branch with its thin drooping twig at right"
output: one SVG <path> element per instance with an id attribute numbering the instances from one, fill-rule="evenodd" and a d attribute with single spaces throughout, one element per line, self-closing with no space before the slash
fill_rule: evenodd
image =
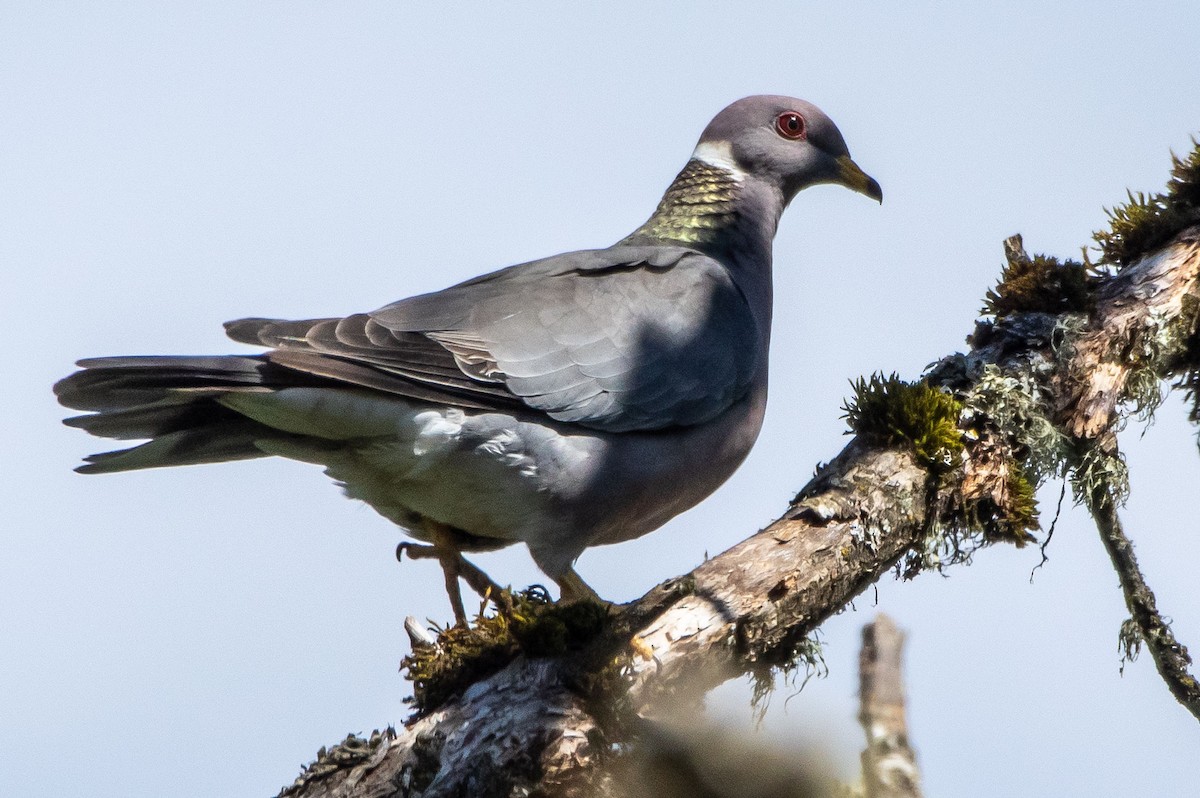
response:
<path id="1" fill-rule="evenodd" d="M 994 289 L 996 318 L 976 328 L 971 350 L 919 383 L 860 380 L 846 406 L 858 434 L 778 521 L 604 617 L 590 641 L 530 598 L 539 607 L 521 634 L 498 622 L 504 656 L 488 676 L 431 698 L 394 739 L 326 752 L 324 763 L 344 766 L 323 767 L 290 794 L 618 796 L 605 773 L 613 751 L 636 739 L 631 719 L 738 674 L 790 666 L 826 618 L 893 568 L 911 575 L 965 559 L 976 545 L 1025 542 L 1037 529 L 1033 487 L 1068 472 L 1120 556 L 1139 634 L 1159 641 L 1171 690 L 1195 713 L 1186 653 L 1145 581 L 1130 576 L 1116 517 L 1127 490 L 1116 428 L 1160 401 L 1163 379 L 1194 376 L 1198 362 L 1200 228 L 1176 223 L 1198 206 L 1200 156 L 1177 160 L 1175 172 L 1163 200 L 1170 214 L 1134 211 L 1153 229 L 1127 226 L 1129 214 L 1115 218 L 1109 241 L 1121 247 L 1105 258 L 1117 271 L 1088 271 L 1081 282 L 1078 265 L 1028 258 L 1010 241 L 1022 286 Z M 1169 242 L 1135 252 L 1146 241 Z M 1052 301 L 1038 304 L 1037 286 Z"/>

